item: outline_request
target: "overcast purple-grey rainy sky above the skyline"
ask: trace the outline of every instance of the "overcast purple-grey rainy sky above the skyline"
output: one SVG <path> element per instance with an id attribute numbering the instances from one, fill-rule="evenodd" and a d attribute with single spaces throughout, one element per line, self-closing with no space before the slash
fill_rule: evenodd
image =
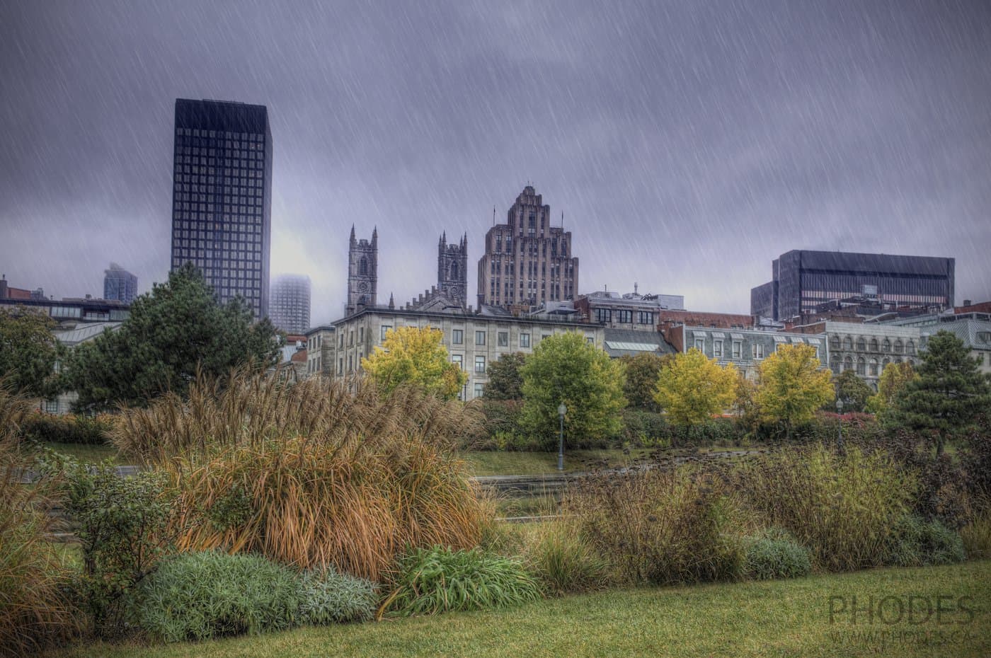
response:
<path id="1" fill-rule="evenodd" d="M 272 271 L 338 318 L 348 232 L 380 298 L 436 281 L 531 181 L 582 291 L 748 312 L 791 249 L 956 258 L 991 299 L 991 3 L 0 0 L 0 269 L 165 279 L 176 97 L 259 103 Z"/>

